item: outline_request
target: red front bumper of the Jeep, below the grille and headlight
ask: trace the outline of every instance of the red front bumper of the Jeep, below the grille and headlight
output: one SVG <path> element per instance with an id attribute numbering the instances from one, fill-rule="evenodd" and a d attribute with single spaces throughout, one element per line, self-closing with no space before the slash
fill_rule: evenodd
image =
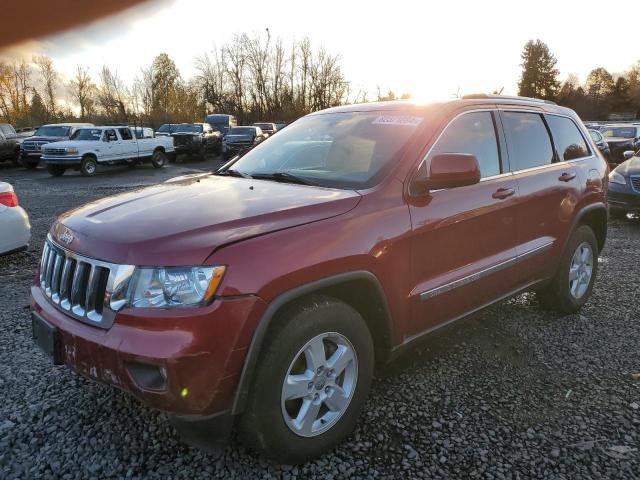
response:
<path id="1" fill-rule="evenodd" d="M 241 296 L 197 309 L 125 309 L 108 330 L 67 316 L 37 285 L 31 308 L 57 329 L 62 363 L 152 408 L 204 418 L 229 409 L 251 341 L 246 332 L 264 302 Z M 141 369 L 161 371 L 165 381 L 149 383 Z"/>

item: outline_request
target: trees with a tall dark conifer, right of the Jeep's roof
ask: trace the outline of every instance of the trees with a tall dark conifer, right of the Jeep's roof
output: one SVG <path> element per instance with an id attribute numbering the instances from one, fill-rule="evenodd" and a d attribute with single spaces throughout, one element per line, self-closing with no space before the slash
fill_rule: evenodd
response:
<path id="1" fill-rule="evenodd" d="M 640 62 L 621 73 L 603 67 L 558 79 L 557 59 L 547 44 L 529 40 L 522 51 L 518 95 L 552 100 L 575 110 L 583 120 L 635 119 L 640 111 Z"/>

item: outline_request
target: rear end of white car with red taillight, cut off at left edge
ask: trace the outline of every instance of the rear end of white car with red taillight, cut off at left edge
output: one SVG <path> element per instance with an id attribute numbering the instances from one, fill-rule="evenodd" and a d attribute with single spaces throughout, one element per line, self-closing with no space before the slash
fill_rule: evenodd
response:
<path id="1" fill-rule="evenodd" d="M 18 205 L 13 187 L 0 182 L 0 255 L 23 250 L 31 239 L 29 216 Z"/>

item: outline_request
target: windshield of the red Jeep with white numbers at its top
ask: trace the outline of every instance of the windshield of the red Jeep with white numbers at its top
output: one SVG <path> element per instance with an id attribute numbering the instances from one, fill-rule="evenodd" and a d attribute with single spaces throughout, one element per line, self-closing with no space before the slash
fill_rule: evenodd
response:
<path id="1" fill-rule="evenodd" d="M 259 144 L 230 168 L 258 177 L 285 172 L 324 187 L 369 188 L 393 166 L 422 121 L 376 112 L 312 115 Z"/>

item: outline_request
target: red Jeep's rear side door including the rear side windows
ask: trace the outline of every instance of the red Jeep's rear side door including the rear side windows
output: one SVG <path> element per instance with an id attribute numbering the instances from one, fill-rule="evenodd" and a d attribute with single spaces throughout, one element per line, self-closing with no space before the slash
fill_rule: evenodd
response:
<path id="1" fill-rule="evenodd" d="M 567 128 L 575 124 L 567 117 L 521 110 L 502 110 L 500 116 L 520 192 L 516 250 L 520 281 L 527 284 L 555 271 L 579 198 L 573 161 L 589 150 L 579 132 L 581 141 L 570 141 Z"/>

